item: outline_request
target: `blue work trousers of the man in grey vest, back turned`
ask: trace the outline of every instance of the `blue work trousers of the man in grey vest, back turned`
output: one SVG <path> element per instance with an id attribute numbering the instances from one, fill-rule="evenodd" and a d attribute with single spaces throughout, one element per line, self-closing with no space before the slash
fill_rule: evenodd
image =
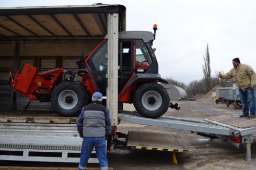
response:
<path id="1" fill-rule="evenodd" d="M 78 170 L 86 169 L 92 150 L 96 150 L 101 170 L 108 170 L 107 148 L 105 137 L 84 137 Z"/>

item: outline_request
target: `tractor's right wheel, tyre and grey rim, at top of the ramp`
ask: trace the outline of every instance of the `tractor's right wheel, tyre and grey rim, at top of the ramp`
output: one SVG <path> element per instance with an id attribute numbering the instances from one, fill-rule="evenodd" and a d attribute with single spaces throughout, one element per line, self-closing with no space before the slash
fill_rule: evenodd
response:
<path id="1" fill-rule="evenodd" d="M 157 118 L 166 113 L 170 97 L 164 87 L 157 83 L 145 83 L 133 96 L 133 105 L 143 117 Z"/>

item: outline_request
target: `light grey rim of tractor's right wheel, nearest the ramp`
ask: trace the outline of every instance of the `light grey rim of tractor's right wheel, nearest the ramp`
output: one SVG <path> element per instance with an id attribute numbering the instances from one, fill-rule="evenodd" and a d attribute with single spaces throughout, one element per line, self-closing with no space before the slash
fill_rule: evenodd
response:
<path id="1" fill-rule="evenodd" d="M 142 96 L 142 105 L 146 110 L 155 111 L 160 108 L 162 104 L 162 97 L 156 91 L 147 91 Z"/>

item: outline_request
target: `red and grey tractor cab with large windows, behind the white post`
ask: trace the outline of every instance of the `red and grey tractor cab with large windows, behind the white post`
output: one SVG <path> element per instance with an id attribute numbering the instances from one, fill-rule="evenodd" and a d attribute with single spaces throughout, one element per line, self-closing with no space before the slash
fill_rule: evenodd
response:
<path id="1" fill-rule="evenodd" d="M 153 38 L 153 33 L 147 31 L 119 32 L 119 93 L 136 74 L 158 74 L 157 59 L 151 46 Z M 107 54 L 108 41 L 104 39 L 85 60 L 86 70 L 94 79 L 96 90 L 103 95 L 106 95 Z"/>

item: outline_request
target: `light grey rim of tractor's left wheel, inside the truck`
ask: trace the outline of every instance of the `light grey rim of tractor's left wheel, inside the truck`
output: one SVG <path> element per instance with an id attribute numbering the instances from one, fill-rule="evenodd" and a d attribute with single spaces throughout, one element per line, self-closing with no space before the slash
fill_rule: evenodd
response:
<path id="1" fill-rule="evenodd" d="M 77 94 L 73 90 L 64 90 L 60 93 L 58 102 L 65 110 L 71 110 L 77 104 Z"/>

